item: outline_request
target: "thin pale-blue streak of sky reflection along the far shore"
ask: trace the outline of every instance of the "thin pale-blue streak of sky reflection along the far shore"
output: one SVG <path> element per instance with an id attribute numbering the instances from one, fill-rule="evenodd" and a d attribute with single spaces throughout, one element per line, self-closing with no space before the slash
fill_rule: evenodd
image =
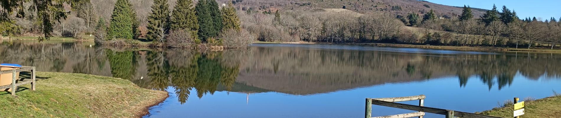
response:
<path id="1" fill-rule="evenodd" d="M 362 51 L 393 51 L 401 53 L 433 53 L 433 54 L 496 54 L 481 51 L 455 51 L 443 49 L 396 48 L 371 45 L 331 45 L 331 44 L 253 44 L 257 47 L 298 47 L 310 49 L 337 49 L 337 50 L 362 50 Z"/>

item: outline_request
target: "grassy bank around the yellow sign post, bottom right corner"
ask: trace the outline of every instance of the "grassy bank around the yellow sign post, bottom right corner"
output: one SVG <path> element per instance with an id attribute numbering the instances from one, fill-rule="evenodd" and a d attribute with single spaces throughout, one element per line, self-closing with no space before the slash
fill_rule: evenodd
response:
<path id="1" fill-rule="evenodd" d="M 543 118 L 543 117 L 559 117 L 561 114 L 561 96 L 553 96 L 542 98 L 536 101 L 525 101 L 525 118 Z M 513 106 L 507 105 L 502 108 L 493 108 L 493 110 L 484 111 L 479 114 L 512 117 Z"/>

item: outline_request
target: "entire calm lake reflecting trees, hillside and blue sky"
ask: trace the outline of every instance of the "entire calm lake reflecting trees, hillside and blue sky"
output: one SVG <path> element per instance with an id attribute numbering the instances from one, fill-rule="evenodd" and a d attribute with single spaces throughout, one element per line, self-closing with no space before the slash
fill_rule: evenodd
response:
<path id="1" fill-rule="evenodd" d="M 480 112 L 513 97 L 561 92 L 561 54 L 554 53 L 335 44 L 225 51 L 90 45 L 2 43 L 0 63 L 122 78 L 169 92 L 144 117 L 364 117 L 365 98 L 415 95 L 426 95 L 428 107 Z M 408 112 L 373 105 L 373 116 Z"/>

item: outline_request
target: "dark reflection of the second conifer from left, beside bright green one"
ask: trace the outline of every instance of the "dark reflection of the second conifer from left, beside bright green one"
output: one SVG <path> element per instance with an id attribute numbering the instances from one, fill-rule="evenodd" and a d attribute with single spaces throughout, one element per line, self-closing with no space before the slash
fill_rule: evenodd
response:
<path id="1" fill-rule="evenodd" d="M 149 51 L 146 54 L 146 63 L 148 65 L 148 77 L 151 79 L 150 85 L 152 89 L 165 91 L 168 87 L 169 64 L 164 58 L 162 51 Z"/>

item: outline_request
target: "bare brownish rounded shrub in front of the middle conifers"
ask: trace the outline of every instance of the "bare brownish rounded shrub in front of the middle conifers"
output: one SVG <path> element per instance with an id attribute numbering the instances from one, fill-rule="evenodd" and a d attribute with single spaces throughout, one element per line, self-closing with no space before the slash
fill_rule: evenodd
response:
<path id="1" fill-rule="evenodd" d="M 169 32 L 165 46 L 170 48 L 192 48 L 200 44 L 200 40 L 192 38 L 191 32 L 186 30 L 173 30 Z"/>

